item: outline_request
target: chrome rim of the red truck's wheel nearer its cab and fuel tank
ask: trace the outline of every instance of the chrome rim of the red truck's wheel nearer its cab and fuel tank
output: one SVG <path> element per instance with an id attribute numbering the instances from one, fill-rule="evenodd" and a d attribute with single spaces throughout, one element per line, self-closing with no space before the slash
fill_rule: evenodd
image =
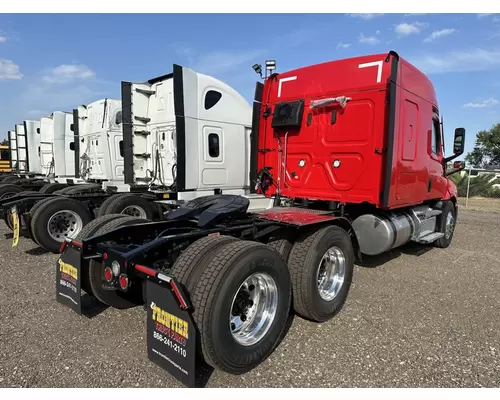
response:
<path id="1" fill-rule="evenodd" d="M 321 258 L 316 275 L 318 292 L 325 301 L 332 301 L 340 292 L 345 277 L 345 256 L 336 246 Z"/>

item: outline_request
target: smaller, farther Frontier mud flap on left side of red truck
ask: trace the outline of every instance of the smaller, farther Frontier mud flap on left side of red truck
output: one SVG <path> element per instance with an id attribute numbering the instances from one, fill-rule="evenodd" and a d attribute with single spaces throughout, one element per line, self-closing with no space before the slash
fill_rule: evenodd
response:
<path id="1" fill-rule="evenodd" d="M 56 300 L 82 315 L 81 249 L 68 242 L 56 262 Z"/>

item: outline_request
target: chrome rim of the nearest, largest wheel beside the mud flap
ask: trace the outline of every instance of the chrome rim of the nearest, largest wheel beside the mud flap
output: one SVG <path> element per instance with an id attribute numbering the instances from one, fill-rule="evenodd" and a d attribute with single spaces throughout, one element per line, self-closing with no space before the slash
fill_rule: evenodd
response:
<path id="1" fill-rule="evenodd" d="M 238 288 L 231 304 L 229 329 L 242 346 L 259 342 L 273 324 L 278 308 L 278 287 L 262 272 L 249 276 Z"/>

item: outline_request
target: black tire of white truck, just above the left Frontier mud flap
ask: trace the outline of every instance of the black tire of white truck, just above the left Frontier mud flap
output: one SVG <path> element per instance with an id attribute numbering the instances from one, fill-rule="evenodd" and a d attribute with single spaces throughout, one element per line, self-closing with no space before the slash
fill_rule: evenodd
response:
<path id="1" fill-rule="evenodd" d="M 79 217 L 81 219 L 80 228 L 78 228 L 79 224 L 76 222 L 74 225 L 70 223 L 67 227 L 67 232 L 70 233 L 70 238 L 75 238 L 80 233 L 81 229 L 83 229 L 83 227 L 93 219 L 92 214 L 84 204 L 66 197 L 55 197 L 39 206 L 32 214 L 31 233 L 33 239 L 39 246 L 55 254 L 59 253 L 61 244 L 66 237 L 68 237 L 68 234 L 61 231 L 57 234 L 57 239 L 53 238 L 49 233 L 50 228 L 47 225 L 51 217 L 62 210 L 68 210 L 75 217 Z M 66 228 L 64 228 L 64 230 L 66 230 Z M 56 234 L 54 233 L 54 235 Z"/>

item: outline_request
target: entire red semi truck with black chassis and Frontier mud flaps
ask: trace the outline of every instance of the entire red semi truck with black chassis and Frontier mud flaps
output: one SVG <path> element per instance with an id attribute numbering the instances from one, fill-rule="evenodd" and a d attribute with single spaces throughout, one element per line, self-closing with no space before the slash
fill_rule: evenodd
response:
<path id="1" fill-rule="evenodd" d="M 185 185 L 193 105 L 182 74 L 174 66 L 165 79 Z M 446 166 L 465 130 L 445 157 L 441 128 L 432 83 L 393 51 L 273 73 L 255 91 L 253 197 L 199 197 L 159 222 L 92 221 L 63 244 L 57 300 L 80 314 L 82 290 L 115 308 L 144 305 L 149 358 L 186 385 L 199 362 L 245 373 L 273 352 L 291 311 L 333 318 L 363 255 L 449 246 L 457 190 L 447 175 L 461 167 Z M 249 212 L 258 196 L 272 206 Z"/>

